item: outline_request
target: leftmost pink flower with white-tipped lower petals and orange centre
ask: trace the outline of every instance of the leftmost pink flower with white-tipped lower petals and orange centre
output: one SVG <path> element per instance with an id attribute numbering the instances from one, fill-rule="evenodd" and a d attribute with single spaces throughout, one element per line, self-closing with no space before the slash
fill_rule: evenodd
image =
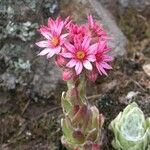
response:
<path id="1" fill-rule="evenodd" d="M 56 21 L 49 18 L 48 27 L 42 26 L 39 31 L 45 37 L 46 40 L 37 42 L 36 45 L 44 48 L 39 55 L 47 55 L 47 58 L 51 58 L 55 54 L 61 52 L 62 45 L 64 44 L 67 34 L 62 34 L 64 27 L 63 21 L 58 17 Z"/>

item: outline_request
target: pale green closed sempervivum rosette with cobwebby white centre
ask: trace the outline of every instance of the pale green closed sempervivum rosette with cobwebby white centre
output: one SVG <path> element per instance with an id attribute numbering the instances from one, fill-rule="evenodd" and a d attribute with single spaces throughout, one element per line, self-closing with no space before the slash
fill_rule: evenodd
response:
<path id="1" fill-rule="evenodd" d="M 114 133 L 112 145 L 117 150 L 148 150 L 150 145 L 150 118 L 133 102 L 111 122 Z"/>

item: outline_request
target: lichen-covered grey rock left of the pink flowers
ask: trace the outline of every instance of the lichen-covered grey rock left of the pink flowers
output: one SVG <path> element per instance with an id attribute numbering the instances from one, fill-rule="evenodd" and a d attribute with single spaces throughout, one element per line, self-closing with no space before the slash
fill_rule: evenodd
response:
<path id="1" fill-rule="evenodd" d="M 37 48 L 34 48 L 35 35 L 38 34 L 35 16 L 37 12 L 41 12 L 41 18 L 45 16 L 43 8 L 48 9 L 49 17 L 58 10 L 58 2 L 0 1 L 0 31 L 3 31 L 0 33 L 0 43 L 4 39 L 12 38 L 11 42 L 4 41 L 0 45 L 0 86 L 8 93 L 9 90 L 26 89 L 27 91 L 23 92 L 34 100 L 49 98 L 61 79 L 54 63 L 46 58 L 37 57 Z"/>

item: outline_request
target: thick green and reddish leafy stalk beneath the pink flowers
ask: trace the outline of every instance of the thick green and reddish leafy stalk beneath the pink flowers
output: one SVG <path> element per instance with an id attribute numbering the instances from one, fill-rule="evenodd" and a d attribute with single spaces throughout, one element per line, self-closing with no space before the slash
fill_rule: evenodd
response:
<path id="1" fill-rule="evenodd" d="M 99 150 L 104 118 L 87 103 L 84 77 L 67 83 L 68 91 L 61 99 L 65 115 L 61 120 L 62 143 L 68 150 Z"/>

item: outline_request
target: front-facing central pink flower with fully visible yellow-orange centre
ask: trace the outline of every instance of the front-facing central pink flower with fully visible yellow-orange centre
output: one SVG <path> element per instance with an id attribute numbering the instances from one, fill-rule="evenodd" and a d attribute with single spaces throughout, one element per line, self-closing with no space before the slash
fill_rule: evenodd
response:
<path id="1" fill-rule="evenodd" d="M 75 67 L 77 75 L 82 72 L 83 67 L 87 70 L 92 70 L 91 62 L 95 61 L 95 45 L 90 46 L 89 37 L 85 37 L 83 42 L 74 43 L 74 45 L 68 42 L 64 45 L 68 52 L 62 53 L 61 55 L 70 59 L 66 65 L 68 68 Z"/>

